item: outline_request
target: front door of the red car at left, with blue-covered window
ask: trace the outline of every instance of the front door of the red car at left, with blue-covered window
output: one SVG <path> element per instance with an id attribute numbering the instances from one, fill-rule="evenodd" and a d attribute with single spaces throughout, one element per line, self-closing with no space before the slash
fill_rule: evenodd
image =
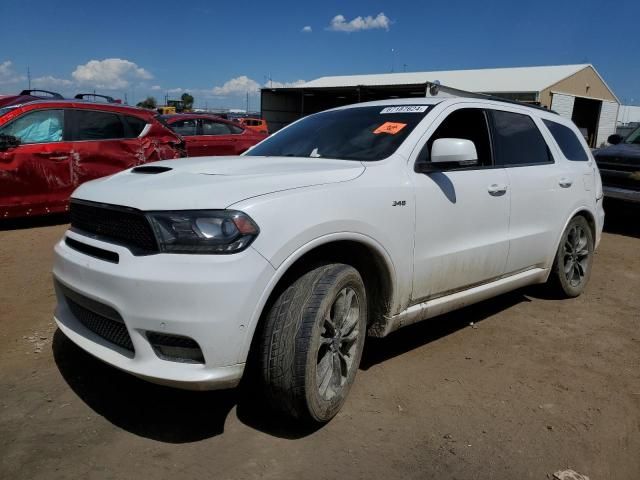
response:
<path id="1" fill-rule="evenodd" d="M 74 189 L 64 110 L 30 110 L 1 126 L 0 134 L 20 140 L 0 151 L 0 215 L 5 206 L 24 206 L 18 215 L 59 210 Z"/>

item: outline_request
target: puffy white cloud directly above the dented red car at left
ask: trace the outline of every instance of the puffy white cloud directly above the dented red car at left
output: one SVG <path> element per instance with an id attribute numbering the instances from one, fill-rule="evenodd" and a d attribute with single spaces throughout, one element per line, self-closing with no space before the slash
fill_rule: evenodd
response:
<path id="1" fill-rule="evenodd" d="M 71 76 L 83 85 L 107 90 L 127 88 L 137 80 L 150 80 L 153 75 L 129 60 L 106 58 L 78 65 Z"/>

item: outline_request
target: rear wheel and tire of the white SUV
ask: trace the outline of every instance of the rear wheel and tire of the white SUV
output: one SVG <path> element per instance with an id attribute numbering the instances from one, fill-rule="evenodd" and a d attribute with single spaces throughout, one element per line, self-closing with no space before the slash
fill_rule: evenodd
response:
<path id="1" fill-rule="evenodd" d="M 562 298 L 580 295 L 591 276 L 593 264 L 593 234 L 582 216 L 571 219 L 556 252 L 548 286 L 553 294 Z"/>

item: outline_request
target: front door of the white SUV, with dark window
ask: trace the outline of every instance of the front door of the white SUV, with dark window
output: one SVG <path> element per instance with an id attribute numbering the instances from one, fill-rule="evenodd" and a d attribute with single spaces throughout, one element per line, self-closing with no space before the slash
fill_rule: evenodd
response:
<path id="1" fill-rule="evenodd" d="M 478 165 L 412 173 L 416 199 L 412 303 L 452 293 L 504 274 L 509 252 L 507 173 L 493 164 L 488 118 L 479 108 L 452 107 L 427 134 L 418 161 L 438 138 L 474 142 Z"/>

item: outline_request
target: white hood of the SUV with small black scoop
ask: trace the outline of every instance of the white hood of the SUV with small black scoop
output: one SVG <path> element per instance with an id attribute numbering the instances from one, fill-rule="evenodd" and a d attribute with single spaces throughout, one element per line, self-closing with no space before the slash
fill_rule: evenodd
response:
<path id="1" fill-rule="evenodd" d="M 217 209 L 272 192 L 346 182 L 365 170 L 357 161 L 251 156 L 182 158 L 142 167 L 168 170 L 125 170 L 81 185 L 72 198 L 140 210 Z"/>

